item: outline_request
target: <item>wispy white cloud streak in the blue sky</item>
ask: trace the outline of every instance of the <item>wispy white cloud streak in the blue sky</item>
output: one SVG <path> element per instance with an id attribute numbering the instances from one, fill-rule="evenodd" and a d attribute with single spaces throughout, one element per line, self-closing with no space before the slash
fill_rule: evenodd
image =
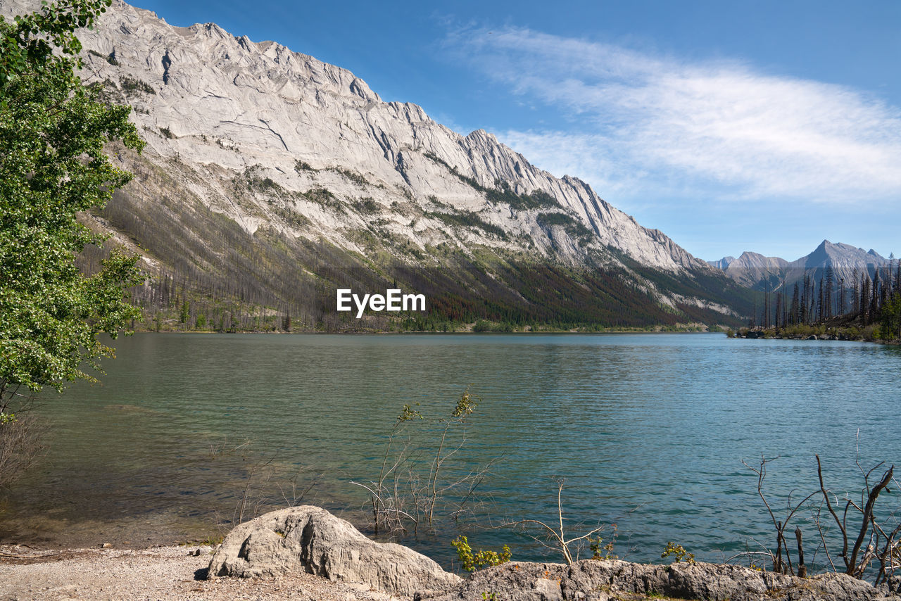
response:
<path id="1" fill-rule="evenodd" d="M 602 194 L 704 187 L 722 198 L 831 203 L 901 195 L 901 111 L 859 90 L 529 29 L 465 30 L 448 44 L 515 94 L 572 116 L 564 130 L 498 133 Z"/>

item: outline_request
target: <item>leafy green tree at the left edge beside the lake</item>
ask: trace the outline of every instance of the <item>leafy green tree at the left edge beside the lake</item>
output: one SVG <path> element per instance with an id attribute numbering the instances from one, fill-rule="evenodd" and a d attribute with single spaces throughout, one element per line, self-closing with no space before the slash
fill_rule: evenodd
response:
<path id="1" fill-rule="evenodd" d="M 0 413 L 41 387 L 92 378 L 115 337 L 140 313 L 123 301 L 138 282 L 136 257 L 114 251 L 97 273 L 75 257 L 104 237 L 77 223 L 131 178 L 104 152 L 141 150 L 127 106 L 98 101 L 76 75 L 81 44 L 111 0 L 68 0 L 0 17 Z M 26 394 L 20 394 L 24 391 Z M 14 420 L 0 426 L 0 437 Z"/>

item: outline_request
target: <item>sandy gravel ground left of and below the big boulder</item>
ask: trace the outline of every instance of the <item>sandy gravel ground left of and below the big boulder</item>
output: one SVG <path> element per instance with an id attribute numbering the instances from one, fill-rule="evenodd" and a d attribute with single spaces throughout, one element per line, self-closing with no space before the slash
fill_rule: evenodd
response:
<path id="1" fill-rule="evenodd" d="M 195 555 L 197 550 L 200 555 Z M 0 601 L 56 599 L 389 601 L 368 587 L 311 574 L 206 580 L 210 547 L 34 551 L 0 545 Z"/>

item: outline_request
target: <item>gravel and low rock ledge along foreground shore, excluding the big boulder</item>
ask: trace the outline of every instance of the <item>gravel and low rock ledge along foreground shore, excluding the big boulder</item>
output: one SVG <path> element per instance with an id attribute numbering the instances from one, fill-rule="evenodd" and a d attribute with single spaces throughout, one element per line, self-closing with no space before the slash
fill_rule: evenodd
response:
<path id="1" fill-rule="evenodd" d="M 0 544 L 0 598 L 16 601 L 901 600 L 896 582 L 888 587 L 872 587 L 866 581 L 832 572 L 797 578 L 734 564 L 693 561 L 640 564 L 588 559 L 571 566 L 511 561 L 464 573 L 464 578 L 458 579 L 459 584 L 450 589 L 422 594 L 396 592 L 392 595 L 367 584 L 365 578 L 356 581 L 341 574 L 314 575 L 309 567 L 304 569 L 302 558 L 296 567 L 279 570 L 274 575 L 207 579 L 214 553 L 218 558 L 218 553 L 223 551 L 223 545 L 187 545 L 139 550 L 67 548 L 47 552 L 23 545 Z M 335 551 L 341 556 L 354 552 L 346 548 L 326 552 Z"/>

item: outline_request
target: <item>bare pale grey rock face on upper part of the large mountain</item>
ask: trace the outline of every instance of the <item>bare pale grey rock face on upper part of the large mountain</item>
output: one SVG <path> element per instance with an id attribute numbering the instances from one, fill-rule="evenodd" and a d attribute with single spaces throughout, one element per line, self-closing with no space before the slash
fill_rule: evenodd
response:
<path id="1" fill-rule="evenodd" d="M 463 136 L 417 105 L 383 102 L 350 71 L 276 42 L 173 27 L 119 1 L 80 39 L 86 81 L 134 105 L 145 159 L 169 171 L 177 161 L 192 194 L 250 232 L 275 226 L 361 250 L 352 232 L 378 222 L 420 249 L 477 243 L 580 265 L 609 246 L 657 269 L 710 270 L 585 182 L 533 167 L 485 131 Z M 235 178 L 248 174 L 266 186 L 236 202 Z M 514 198 L 549 196 L 508 203 L 489 193 L 500 182 Z"/>

